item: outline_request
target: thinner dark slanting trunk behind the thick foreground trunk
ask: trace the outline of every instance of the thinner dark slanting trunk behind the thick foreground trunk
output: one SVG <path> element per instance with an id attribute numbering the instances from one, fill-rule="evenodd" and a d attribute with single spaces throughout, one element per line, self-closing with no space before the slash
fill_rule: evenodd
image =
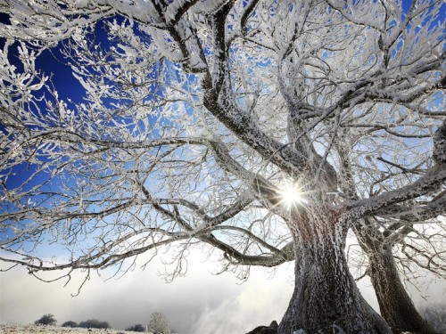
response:
<path id="1" fill-rule="evenodd" d="M 392 248 L 381 248 L 381 251 L 368 254 L 368 258 L 370 279 L 376 292 L 379 309 L 392 331 L 435 333 L 418 314 L 412 299 L 404 289 L 392 255 Z"/>

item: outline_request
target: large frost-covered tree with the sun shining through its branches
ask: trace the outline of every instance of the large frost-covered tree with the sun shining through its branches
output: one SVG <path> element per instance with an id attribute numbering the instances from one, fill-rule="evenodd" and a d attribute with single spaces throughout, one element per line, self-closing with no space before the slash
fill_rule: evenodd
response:
<path id="1" fill-rule="evenodd" d="M 351 228 L 419 262 L 410 237 L 446 211 L 441 1 L 0 8 L 2 61 L 21 61 L 2 72 L 5 262 L 88 275 L 174 245 L 175 277 L 199 244 L 246 278 L 293 260 L 280 333 L 390 332 L 344 248 Z M 59 41 L 82 99 L 35 67 Z M 38 257 L 43 241 L 69 260 Z"/>

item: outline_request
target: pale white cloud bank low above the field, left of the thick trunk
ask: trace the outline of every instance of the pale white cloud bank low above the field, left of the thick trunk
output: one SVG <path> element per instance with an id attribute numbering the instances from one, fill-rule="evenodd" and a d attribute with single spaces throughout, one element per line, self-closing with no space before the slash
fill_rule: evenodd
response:
<path id="1" fill-rule="evenodd" d="M 160 262 L 141 271 L 103 281 L 96 275 L 87 281 L 78 297 L 80 274 L 65 281 L 44 283 L 15 268 L 1 273 L 1 322 L 29 323 L 43 314 L 54 314 L 59 324 L 89 318 L 110 322 L 115 329 L 145 323 L 153 312 L 169 317 L 172 328 L 191 333 L 235 333 L 280 320 L 293 291 L 288 269 L 274 279 L 253 268 L 250 280 L 238 284 L 232 273 L 213 275 L 212 265 L 192 256 L 189 272 L 172 283 L 156 273 Z M 286 266 L 286 265 L 285 265 Z"/>

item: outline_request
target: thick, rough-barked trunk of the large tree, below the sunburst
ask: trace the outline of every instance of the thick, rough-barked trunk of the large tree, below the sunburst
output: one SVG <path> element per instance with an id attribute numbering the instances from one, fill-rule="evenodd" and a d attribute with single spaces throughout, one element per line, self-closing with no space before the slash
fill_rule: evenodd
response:
<path id="1" fill-rule="evenodd" d="M 295 287 L 279 334 L 391 333 L 360 295 L 344 256 L 348 224 L 328 209 L 296 214 Z"/>

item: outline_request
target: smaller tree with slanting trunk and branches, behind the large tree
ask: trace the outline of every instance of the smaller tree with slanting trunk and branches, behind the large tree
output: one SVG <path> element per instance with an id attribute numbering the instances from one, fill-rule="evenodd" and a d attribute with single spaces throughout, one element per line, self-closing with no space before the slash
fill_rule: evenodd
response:
<path id="1" fill-rule="evenodd" d="M 343 140 L 346 140 L 344 137 Z M 402 148 L 400 149 L 402 150 Z M 340 155 L 341 173 L 344 175 L 343 191 L 349 193 L 351 198 L 358 198 L 355 185 L 351 179 L 353 175 L 351 164 Z M 378 158 L 384 160 L 383 158 Z M 389 161 L 387 161 L 389 162 Z M 426 163 L 426 161 L 424 161 Z M 396 170 L 395 170 L 396 169 Z M 392 170 L 393 175 L 403 177 L 416 177 L 417 168 L 404 168 L 397 166 Z M 373 192 L 385 190 L 386 185 L 376 182 L 370 187 L 368 197 Z M 436 214 L 433 212 L 433 216 Z M 425 270 L 442 278 L 446 273 L 446 264 L 442 257 L 445 236 L 442 232 L 442 221 L 434 221 L 433 216 L 392 216 L 368 217 L 364 224 L 353 226 L 359 240 L 359 245 L 367 255 L 368 265 L 365 274 L 370 276 L 381 314 L 394 332 L 413 331 L 417 333 L 435 333 L 424 318 L 418 314 L 408 292 L 400 279 L 401 266 L 406 279 L 417 280 L 420 270 Z M 414 224 L 425 222 L 424 228 L 414 229 Z M 398 255 L 394 256 L 394 248 L 399 248 Z M 402 253 L 402 254 L 401 254 Z M 358 259 L 357 259 L 358 261 Z M 359 259 L 364 267 L 364 259 Z M 414 269 L 414 265 L 417 267 Z M 400 272 L 400 273 L 399 273 Z"/>

